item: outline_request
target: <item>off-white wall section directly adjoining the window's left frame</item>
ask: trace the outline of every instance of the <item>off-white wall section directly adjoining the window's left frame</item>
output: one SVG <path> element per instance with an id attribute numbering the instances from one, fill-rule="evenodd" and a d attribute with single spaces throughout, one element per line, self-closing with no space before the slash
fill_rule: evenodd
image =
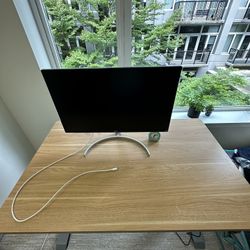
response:
<path id="1" fill-rule="evenodd" d="M 0 96 L 37 149 L 58 115 L 10 0 L 0 1 Z"/>

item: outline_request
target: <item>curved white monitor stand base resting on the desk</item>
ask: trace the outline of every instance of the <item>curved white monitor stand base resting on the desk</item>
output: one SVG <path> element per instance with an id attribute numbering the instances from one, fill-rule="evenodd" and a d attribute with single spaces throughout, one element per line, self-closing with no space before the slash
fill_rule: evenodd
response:
<path id="1" fill-rule="evenodd" d="M 84 151 L 84 157 L 87 156 L 88 152 L 93 148 L 95 147 L 97 144 L 99 143 L 102 143 L 102 142 L 105 142 L 105 141 L 109 141 L 109 140 L 127 140 L 127 141 L 131 141 L 131 142 L 135 142 L 137 145 L 141 146 L 144 151 L 146 152 L 147 156 L 150 157 L 150 151 L 148 150 L 148 148 L 140 141 L 138 141 L 137 139 L 135 138 L 132 138 L 132 137 L 129 137 L 129 136 L 124 136 L 124 135 L 121 135 L 119 133 L 115 134 L 115 135 L 110 135 L 110 136 L 107 136 L 107 137 L 104 137 L 102 139 L 98 139 L 96 141 L 94 141 L 93 143 L 91 143 L 87 148 L 86 150 Z"/>

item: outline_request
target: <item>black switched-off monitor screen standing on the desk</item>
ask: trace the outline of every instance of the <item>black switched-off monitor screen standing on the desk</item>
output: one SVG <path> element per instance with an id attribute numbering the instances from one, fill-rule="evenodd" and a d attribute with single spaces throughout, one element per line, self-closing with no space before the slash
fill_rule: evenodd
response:
<path id="1" fill-rule="evenodd" d="M 65 132 L 168 131 L 180 66 L 42 70 Z"/>

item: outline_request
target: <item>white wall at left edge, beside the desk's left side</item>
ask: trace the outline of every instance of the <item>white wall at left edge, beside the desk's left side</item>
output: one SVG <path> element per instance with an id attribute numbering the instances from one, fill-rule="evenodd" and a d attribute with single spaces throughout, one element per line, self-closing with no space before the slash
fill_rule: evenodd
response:
<path id="1" fill-rule="evenodd" d="M 0 98 L 0 206 L 28 165 L 34 151 Z"/>

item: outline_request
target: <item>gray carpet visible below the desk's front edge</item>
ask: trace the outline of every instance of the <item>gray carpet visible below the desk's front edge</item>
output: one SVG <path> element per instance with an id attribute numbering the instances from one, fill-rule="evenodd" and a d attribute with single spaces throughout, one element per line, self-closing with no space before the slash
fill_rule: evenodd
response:
<path id="1" fill-rule="evenodd" d="M 180 233 L 188 241 L 185 233 Z M 219 250 L 218 239 L 213 232 L 203 234 L 206 249 Z M 0 242 L 0 250 L 39 250 L 44 234 L 6 234 Z M 56 234 L 49 234 L 44 250 L 55 248 Z M 72 234 L 68 250 L 193 250 L 193 244 L 184 246 L 175 233 L 89 233 Z M 225 245 L 226 250 L 232 250 Z"/>

